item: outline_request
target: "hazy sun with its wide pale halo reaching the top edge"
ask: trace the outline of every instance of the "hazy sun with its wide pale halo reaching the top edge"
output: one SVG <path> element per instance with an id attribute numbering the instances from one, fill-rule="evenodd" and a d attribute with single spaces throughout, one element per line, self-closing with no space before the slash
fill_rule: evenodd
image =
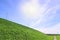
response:
<path id="1" fill-rule="evenodd" d="M 21 11 L 22 15 L 26 18 L 36 19 L 43 15 L 45 8 L 38 3 L 38 0 L 31 0 L 30 2 L 21 4 L 19 11 Z"/>

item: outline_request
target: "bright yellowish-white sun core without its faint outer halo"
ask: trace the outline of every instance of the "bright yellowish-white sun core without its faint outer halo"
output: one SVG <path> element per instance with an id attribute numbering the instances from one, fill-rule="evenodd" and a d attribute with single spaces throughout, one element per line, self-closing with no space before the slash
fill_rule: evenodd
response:
<path id="1" fill-rule="evenodd" d="M 21 11 L 23 12 L 23 15 L 28 18 L 36 18 L 39 15 L 38 6 L 31 3 L 26 3 L 22 5 Z"/>

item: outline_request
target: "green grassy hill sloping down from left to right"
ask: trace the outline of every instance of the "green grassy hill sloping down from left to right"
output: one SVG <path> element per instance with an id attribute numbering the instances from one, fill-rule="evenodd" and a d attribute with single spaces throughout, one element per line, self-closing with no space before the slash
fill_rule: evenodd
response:
<path id="1" fill-rule="evenodd" d="M 52 40 L 51 37 L 28 28 L 0 18 L 0 40 Z"/>

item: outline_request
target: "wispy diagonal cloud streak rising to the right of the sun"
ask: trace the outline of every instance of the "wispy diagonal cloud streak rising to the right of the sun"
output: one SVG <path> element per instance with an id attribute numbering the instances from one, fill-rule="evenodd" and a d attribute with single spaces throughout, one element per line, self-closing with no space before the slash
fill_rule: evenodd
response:
<path id="1" fill-rule="evenodd" d="M 48 5 L 46 5 L 46 7 L 47 6 Z M 56 10 L 58 8 L 60 8 L 60 5 L 56 5 L 52 8 L 48 8 L 48 9 L 46 8 L 45 10 L 43 8 L 44 11 L 42 11 L 42 16 L 40 16 L 40 18 L 35 23 L 33 23 L 32 26 L 38 25 L 39 23 L 44 22 L 44 21 L 47 22 L 47 21 L 52 20 L 56 16 L 56 14 L 57 14 Z"/>

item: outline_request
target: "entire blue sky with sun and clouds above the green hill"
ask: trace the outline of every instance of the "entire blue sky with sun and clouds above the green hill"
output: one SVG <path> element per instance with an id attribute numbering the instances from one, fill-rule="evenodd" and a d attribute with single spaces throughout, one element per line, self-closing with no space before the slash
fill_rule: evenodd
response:
<path id="1" fill-rule="evenodd" d="M 43 33 L 60 33 L 60 0 L 0 0 L 0 18 Z"/>

